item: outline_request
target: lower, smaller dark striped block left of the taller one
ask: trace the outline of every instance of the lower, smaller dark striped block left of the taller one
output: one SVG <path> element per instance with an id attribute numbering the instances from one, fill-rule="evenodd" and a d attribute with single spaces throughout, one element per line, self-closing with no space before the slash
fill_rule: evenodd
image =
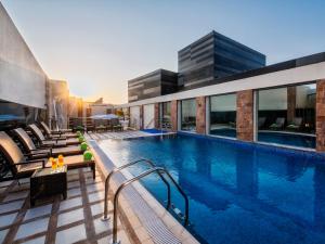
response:
<path id="1" fill-rule="evenodd" d="M 173 93 L 178 90 L 178 74 L 157 69 L 128 81 L 129 102 Z"/>

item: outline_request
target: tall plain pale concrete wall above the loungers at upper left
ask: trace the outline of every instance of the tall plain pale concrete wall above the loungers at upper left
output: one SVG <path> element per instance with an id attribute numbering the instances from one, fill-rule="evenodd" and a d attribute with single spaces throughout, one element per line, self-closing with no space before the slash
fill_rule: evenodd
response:
<path id="1" fill-rule="evenodd" d="M 0 99 L 46 107 L 47 76 L 0 3 Z"/>

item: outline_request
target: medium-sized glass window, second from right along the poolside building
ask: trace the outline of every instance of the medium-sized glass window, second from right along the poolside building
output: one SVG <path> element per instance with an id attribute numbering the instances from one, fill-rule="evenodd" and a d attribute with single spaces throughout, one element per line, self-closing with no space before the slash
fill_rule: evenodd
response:
<path id="1" fill-rule="evenodd" d="M 236 137 L 236 94 L 210 97 L 210 134 Z"/>

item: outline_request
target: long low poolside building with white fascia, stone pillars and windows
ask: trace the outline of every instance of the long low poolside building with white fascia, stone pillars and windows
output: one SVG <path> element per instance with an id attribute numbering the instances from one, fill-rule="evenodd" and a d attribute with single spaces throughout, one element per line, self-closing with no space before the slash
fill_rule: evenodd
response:
<path id="1" fill-rule="evenodd" d="M 324 52 L 218 79 L 117 108 L 155 128 L 325 152 Z"/>

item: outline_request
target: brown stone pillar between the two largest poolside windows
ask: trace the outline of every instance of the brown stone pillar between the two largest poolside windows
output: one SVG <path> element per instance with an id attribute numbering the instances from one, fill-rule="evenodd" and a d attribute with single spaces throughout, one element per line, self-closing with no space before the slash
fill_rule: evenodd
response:
<path id="1" fill-rule="evenodd" d="M 253 141 L 253 92 L 245 90 L 237 92 L 237 139 Z"/>

